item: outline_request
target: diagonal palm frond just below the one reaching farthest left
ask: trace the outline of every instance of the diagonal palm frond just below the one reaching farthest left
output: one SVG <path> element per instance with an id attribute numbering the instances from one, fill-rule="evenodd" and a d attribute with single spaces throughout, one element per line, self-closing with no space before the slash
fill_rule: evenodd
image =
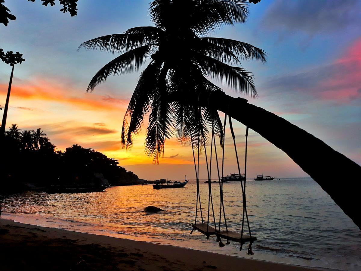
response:
<path id="1" fill-rule="evenodd" d="M 123 53 L 110 61 L 91 79 L 87 92 L 94 90 L 95 87 L 104 82 L 110 74 L 122 75 L 126 72 L 137 71 L 144 64 L 146 58 L 151 55 L 152 48 L 150 45 L 144 45 Z"/>

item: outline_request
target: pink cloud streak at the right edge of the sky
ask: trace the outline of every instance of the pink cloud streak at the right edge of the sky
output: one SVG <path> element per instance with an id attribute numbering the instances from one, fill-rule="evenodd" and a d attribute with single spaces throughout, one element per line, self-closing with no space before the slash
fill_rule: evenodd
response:
<path id="1" fill-rule="evenodd" d="M 298 92 L 311 99 L 349 103 L 361 98 L 361 38 L 329 65 L 308 68 L 296 74 L 272 78 L 267 88 L 285 93 Z"/>

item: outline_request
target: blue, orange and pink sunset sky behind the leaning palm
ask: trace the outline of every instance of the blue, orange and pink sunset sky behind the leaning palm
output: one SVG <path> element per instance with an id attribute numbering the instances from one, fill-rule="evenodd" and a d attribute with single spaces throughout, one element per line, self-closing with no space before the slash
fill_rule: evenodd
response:
<path id="1" fill-rule="evenodd" d="M 40 1 L 6 0 L 17 20 L 7 27 L 0 25 L 0 46 L 5 52 L 23 53 L 26 59 L 14 69 L 6 126 L 42 128 L 58 150 L 73 144 L 95 149 L 147 180 L 178 180 L 184 175 L 194 179 L 191 147 L 179 145 L 176 139 L 166 141 L 158 165 L 144 153 L 145 129 L 132 150 L 122 149 L 122 120 L 139 73 L 110 77 L 86 93 L 94 74 L 116 56 L 77 51 L 79 44 L 152 25 L 149 1 L 79 0 L 78 15 L 70 17 L 59 11 L 58 3 L 44 7 Z M 361 1 L 262 0 L 249 10 L 246 23 L 222 27 L 211 35 L 247 42 L 267 52 L 266 64 L 242 63 L 255 76 L 258 98 L 221 87 L 228 95 L 246 98 L 305 129 L 361 164 Z M 0 63 L 2 107 L 10 72 L 10 66 Z M 234 129 L 243 168 L 245 127 L 234 121 Z M 231 137 L 226 136 L 226 173 L 237 172 L 232 146 Z M 204 163 L 202 156 L 200 178 L 207 175 Z M 262 173 L 308 176 L 284 152 L 250 130 L 247 177 Z M 215 167 L 212 178 L 217 178 Z"/>

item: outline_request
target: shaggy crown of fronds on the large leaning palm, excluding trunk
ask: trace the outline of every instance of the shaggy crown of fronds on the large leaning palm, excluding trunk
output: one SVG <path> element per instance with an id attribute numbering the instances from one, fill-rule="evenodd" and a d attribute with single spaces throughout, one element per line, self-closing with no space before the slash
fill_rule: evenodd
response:
<path id="1" fill-rule="evenodd" d="M 247 0 L 155 0 L 150 15 L 155 26 L 135 27 L 124 34 L 101 36 L 79 46 L 113 53 L 123 53 L 96 73 L 87 91 L 92 91 L 109 75 L 143 70 L 126 111 L 123 147 L 132 146 L 132 135 L 140 132 L 143 117 L 150 111 L 146 153 L 153 162 L 164 151 L 164 143 L 175 128 L 179 141 L 191 133 L 198 142 L 207 137 L 207 124 L 223 137 L 216 109 L 174 101 L 170 97 L 197 97 L 200 92 L 221 92 L 208 78 L 213 78 L 236 91 L 257 96 L 252 74 L 234 66 L 242 59 L 265 62 L 265 53 L 251 44 L 237 40 L 203 37 L 223 24 L 245 22 Z"/>

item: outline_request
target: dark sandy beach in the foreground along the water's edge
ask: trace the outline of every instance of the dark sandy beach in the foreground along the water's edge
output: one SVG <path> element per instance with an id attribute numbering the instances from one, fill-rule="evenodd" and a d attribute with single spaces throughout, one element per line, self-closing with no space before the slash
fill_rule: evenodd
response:
<path id="1" fill-rule="evenodd" d="M 239 270 L 240 267 L 328 270 L 40 227 L 3 218 L 0 218 L 0 229 L 9 230 L 0 235 L 3 270 Z M 20 261 L 16 258 L 18 255 L 21 255 Z"/>

